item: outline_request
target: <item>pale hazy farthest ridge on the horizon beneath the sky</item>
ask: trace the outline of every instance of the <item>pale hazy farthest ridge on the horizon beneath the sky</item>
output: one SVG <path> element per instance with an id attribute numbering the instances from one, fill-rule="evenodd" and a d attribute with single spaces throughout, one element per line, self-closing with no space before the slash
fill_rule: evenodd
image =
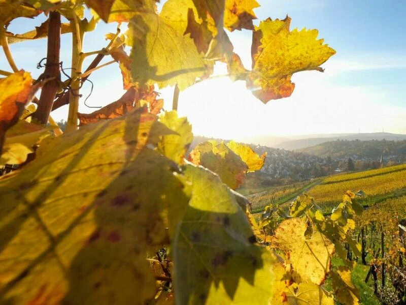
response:
<path id="1" fill-rule="evenodd" d="M 406 140 L 406 135 L 401 134 L 392 134 L 386 132 L 379 132 L 379 133 L 360 133 L 360 134 L 340 134 L 340 135 L 319 135 L 318 137 L 309 137 L 306 139 L 296 139 L 296 140 L 289 140 L 281 142 L 273 147 L 287 149 L 287 150 L 298 150 L 305 147 L 310 147 L 314 145 L 319 145 L 329 141 L 335 140 L 361 140 L 361 141 L 369 141 L 369 140 L 392 140 L 392 141 L 399 141 L 399 140 Z"/>

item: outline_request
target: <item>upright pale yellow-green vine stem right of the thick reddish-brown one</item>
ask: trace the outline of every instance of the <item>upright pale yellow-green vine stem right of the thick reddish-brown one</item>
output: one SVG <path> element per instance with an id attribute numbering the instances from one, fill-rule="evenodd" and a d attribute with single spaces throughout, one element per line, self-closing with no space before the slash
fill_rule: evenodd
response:
<path id="1" fill-rule="evenodd" d="M 67 115 L 66 132 L 71 132 L 78 129 L 78 110 L 79 110 L 79 87 L 80 77 L 82 72 L 83 57 L 82 53 L 82 40 L 84 32 L 80 31 L 78 18 L 74 14 L 71 21 L 72 27 L 72 72 L 71 72 L 71 93 L 69 95 L 69 113 Z"/>

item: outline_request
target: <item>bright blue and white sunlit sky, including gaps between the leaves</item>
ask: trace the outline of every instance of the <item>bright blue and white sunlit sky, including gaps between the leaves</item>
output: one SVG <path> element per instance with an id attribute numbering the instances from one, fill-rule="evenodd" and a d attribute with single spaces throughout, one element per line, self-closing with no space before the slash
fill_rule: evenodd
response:
<path id="1" fill-rule="evenodd" d="M 162 2 L 162 1 L 161 1 Z M 292 77 L 296 88 L 290 98 L 270 101 L 266 105 L 245 88 L 216 78 L 194 85 L 180 95 L 179 113 L 187 115 L 193 132 L 235 140 L 252 136 L 320 133 L 385 132 L 406 134 L 406 1 L 333 1 L 333 0 L 258 0 L 258 20 L 267 17 L 292 18 L 291 28 L 317 28 L 336 54 L 322 67 L 324 73 L 300 72 Z M 9 30 L 29 31 L 42 19 L 18 19 Z M 115 32 L 114 24 L 97 25 L 86 34 L 84 51 L 100 49 L 104 34 Z M 251 67 L 249 50 L 251 32 L 234 31 L 230 38 L 234 51 Z M 62 39 L 62 60 L 69 67 L 71 36 Z M 36 64 L 45 53 L 46 40 L 11 45 L 17 66 L 40 74 Z M 246 55 L 244 55 L 246 54 Z M 91 59 L 89 59 L 91 60 Z M 110 60 L 110 58 L 108 59 Z M 87 66 L 87 64 L 85 64 Z M 10 71 L 3 54 L 0 69 Z M 225 67 L 217 65 L 216 73 Z M 94 91 L 87 104 L 104 106 L 123 93 L 121 74 L 111 65 L 91 76 Z M 83 91 L 86 92 L 89 85 Z M 173 88 L 158 90 L 170 110 Z M 84 99 L 83 99 L 84 100 Z M 91 112 L 81 102 L 81 112 Z M 66 118 L 67 108 L 53 113 L 55 119 Z"/>

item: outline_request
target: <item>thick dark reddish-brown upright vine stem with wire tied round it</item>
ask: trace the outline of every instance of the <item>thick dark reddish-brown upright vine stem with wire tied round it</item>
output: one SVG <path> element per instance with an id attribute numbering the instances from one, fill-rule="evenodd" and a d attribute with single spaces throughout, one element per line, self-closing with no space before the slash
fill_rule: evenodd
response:
<path id="1" fill-rule="evenodd" d="M 41 90 L 38 108 L 32 117 L 36 118 L 41 124 L 48 123 L 49 114 L 51 113 L 52 104 L 60 83 L 59 70 L 59 51 L 60 51 L 60 13 L 57 11 L 49 13 L 49 31 L 47 47 L 47 63 L 45 66 L 44 77 L 50 79 Z"/>

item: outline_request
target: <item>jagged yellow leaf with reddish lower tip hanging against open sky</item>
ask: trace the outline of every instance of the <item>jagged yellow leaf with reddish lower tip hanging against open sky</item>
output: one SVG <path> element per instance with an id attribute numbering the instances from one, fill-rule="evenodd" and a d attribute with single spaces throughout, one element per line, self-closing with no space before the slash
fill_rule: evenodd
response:
<path id="1" fill-rule="evenodd" d="M 335 51 L 317 40 L 316 29 L 293 29 L 290 18 L 261 21 L 253 32 L 252 71 L 247 87 L 263 103 L 289 97 L 294 89 L 293 73 L 323 71 L 323 64 Z"/>

